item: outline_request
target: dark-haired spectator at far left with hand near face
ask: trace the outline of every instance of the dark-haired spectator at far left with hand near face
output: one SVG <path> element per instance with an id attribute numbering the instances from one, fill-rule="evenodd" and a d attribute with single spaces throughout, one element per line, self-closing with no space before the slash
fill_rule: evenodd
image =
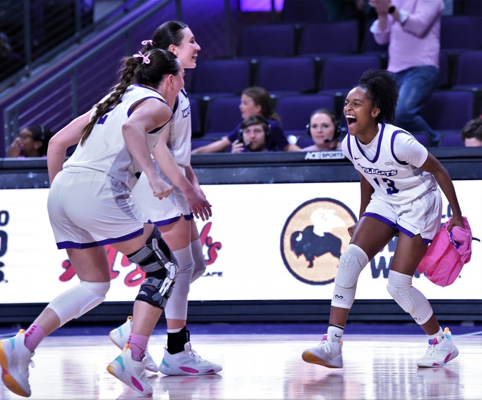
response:
<path id="1" fill-rule="evenodd" d="M 11 144 L 8 157 L 44 157 L 52 133 L 41 125 L 31 125 L 20 131 Z"/>

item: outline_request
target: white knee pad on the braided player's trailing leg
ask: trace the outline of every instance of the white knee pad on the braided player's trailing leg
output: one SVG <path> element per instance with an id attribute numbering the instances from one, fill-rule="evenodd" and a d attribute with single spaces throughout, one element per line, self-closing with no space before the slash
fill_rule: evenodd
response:
<path id="1" fill-rule="evenodd" d="M 81 280 L 78 285 L 55 297 L 47 307 L 57 314 L 60 326 L 62 326 L 102 303 L 109 288 L 110 281 L 85 282 Z"/>

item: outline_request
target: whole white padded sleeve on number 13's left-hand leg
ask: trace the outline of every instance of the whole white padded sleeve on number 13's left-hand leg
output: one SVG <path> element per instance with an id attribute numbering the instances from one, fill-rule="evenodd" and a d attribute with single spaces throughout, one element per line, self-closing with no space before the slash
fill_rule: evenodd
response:
<path id="1" fill-rule="evenodd" d="M 358 276 L 367 264 L 368 256 L 365 251 L 355 244 L 349 244 L 346 251 L 340 256 L 335 276 L 335 288 L 331 298 L 333 307 L 351 308 L 355 299 Z"/>

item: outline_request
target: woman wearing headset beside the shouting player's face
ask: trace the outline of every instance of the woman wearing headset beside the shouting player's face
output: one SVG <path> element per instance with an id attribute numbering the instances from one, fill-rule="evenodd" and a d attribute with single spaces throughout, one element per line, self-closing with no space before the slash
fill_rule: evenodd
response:
<path id="1" fill-rule="evenodd" d="M 314 144 L 303 148 L 302 151 L 326 151 L 341 148 L 341 142 L 338 142 L 341 125 L 331 110 L 313 111 L 310 122 L 306 124 L 306 132 L 313 139 Z"/>

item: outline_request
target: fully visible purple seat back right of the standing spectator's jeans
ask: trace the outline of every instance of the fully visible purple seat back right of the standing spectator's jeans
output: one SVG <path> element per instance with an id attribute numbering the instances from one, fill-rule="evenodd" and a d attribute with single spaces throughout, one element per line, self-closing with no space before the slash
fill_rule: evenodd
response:
<path id="1" fill-rule="evenodd" d="M 436 131 L 461 130 L 473 118 L 473 93 L 455 90 L 434 92 L 421 115 Z"/>

